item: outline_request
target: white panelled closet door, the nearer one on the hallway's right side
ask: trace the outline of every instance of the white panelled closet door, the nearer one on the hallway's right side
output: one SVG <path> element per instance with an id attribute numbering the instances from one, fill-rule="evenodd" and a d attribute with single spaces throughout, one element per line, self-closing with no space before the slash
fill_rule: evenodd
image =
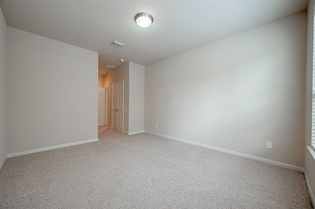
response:
<path id="1" fill-rule="evenodd" d="M 112 84 L 112 129 L 123 132 L 124 81 Z"/>

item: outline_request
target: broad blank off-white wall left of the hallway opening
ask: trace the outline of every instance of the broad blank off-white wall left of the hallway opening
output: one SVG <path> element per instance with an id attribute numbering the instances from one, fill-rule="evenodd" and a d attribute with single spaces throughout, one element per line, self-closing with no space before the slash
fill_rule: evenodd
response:
<path id="1" fill-rule="evenodd" d="M 98 54 L 7 32 L 8 153 L 96 139 Z"/>

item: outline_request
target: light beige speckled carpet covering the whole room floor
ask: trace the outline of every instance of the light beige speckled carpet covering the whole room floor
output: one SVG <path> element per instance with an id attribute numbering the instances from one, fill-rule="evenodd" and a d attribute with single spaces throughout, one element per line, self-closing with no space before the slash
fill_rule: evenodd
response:
<path id="1" fill-rule="evenodd" d="M 141 133 L 8 158 L 1 209 L 311 209 L 303 173 Z"/>

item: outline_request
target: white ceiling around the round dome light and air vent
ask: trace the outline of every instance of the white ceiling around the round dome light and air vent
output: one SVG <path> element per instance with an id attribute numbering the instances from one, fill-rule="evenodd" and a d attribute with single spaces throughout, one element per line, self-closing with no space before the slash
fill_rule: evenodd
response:
<path id="1" fill-rule="evenodd" d="M 305 0 L 1 0 L 8 26 L 99 53 L 99 74 L 147 65 L 307 9 Z M 154 22 L 134 21 L 148 12 Z M 110 46 L 116 40 L 121 49 Z"/>

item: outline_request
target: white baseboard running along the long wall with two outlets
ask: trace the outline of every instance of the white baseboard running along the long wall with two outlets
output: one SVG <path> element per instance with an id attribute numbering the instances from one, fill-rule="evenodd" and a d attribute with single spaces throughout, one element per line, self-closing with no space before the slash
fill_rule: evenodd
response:
<path id="1" fill-rule="evenodd" d="M 157 136 L 161 136 L 161 137 L 164 137 L 164 138 L 168 138 L 168 139 L 173 139 L 173 140 L 180 141 L 180 142 L 185 142 L 185 143 L 188 143 L 188 144 L 191 144 L 191 145 L 196 145 L 196 146 L 200 146 L 200 147 L 204 147 L 204 148 L 208 148 L 208 149 L 214 149 L 214 150 L 217 150 L 217 151 L 221 151 L 221 152 L 225 152 L 225 153 L 229 153 L 229 154 L 234 154 L 234 155 L 237 155 L 237 156 L 240 156 L 240 157 L 246 157 L 246 158 L 249 158 L 249 159 L 252 159 L 252 160 L 257 160 L 257 161 L 260 161 L 260 162 L 269 163 L 269 164 L 272 164 L 272 165 L 280 166 L 280 167 L 291 169 L 291 170 L 294 170 L 294 171 L 304 172 L 304 168 L 298 167 L 298 166 L 295 166 L 295 165 L 290 165 L 290 164 L 286 164 L 286 163 L 282 163 L 282 162 L 278 162 L 278 161 L 274 161 L 274 160 L 269 160 L 269 159 L 266 159 L 266 158 L 257 157 L 257 156 L 253 156 L 253 155 L 250 155 L 250 154 L 244 154 L 244 153 L 241 153 L 241 152 L 232 151 L 232 150 L 228 150 L 228 149 L 222 149 L 222 148 L 218 148 L 218 147 L 213 147 L 213 146 L 210 146 L 210 145 L 205 145 L 205 144 L 192 142 L 192 141 L 185 140 L 185 139 L 180 139 L 180 138 L 171 137 L 171 136 L 167 136 L 167 135 L 163 135 L 163 134 L 158 134 L 158 133 L 151 132 L 151 131 L 144 131 L 144 132 L 145 133 L 149 133 L 149 134 L 153 134 L 153 135 L 157 135 Z"/>

